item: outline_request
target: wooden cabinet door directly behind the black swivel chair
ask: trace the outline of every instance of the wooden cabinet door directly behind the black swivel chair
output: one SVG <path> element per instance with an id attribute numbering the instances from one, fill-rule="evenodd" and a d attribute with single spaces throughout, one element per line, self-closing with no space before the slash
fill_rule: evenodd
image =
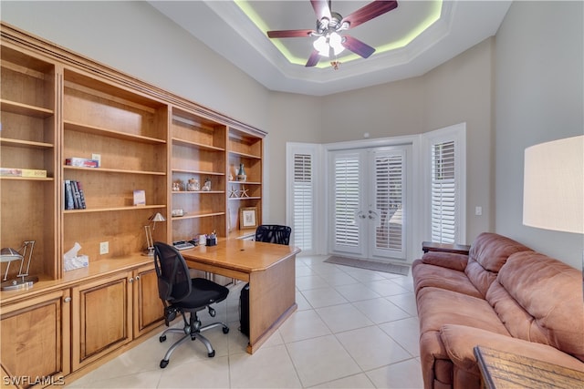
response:
<path id="1" fill-rule="evenodd" d="M 158 297 L 154 264 L 134 271 L 134 338 L 151 331 L 164 320 L 164 305 Z"/>

